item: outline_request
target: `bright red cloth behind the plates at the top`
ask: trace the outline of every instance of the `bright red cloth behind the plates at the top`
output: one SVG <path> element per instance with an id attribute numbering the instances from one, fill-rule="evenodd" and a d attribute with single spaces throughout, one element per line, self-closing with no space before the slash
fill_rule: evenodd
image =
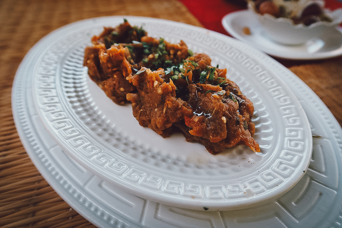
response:
<path id="1" fill-rule="evenodd" d="M 229 35 L 223 28 L 222 18 L 231 12 L 246 9 L 243 0 L 179 0 L 207 29 Z M 342 2 L 326 0 L 326 8 L 342 8 Z"/>

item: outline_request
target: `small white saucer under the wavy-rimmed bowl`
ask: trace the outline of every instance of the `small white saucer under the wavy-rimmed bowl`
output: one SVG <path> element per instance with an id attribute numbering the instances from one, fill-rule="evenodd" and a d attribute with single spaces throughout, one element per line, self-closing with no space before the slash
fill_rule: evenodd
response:
<path id="1" fill-rule="evenodd" d="M 283 45 L 268 38 L 257 18 L 248 10 L 225 15 L 222 18 L 222 25 L 233 37 L 275 57 L 287 59 L 323 59 L 342 55 L 341 27 L 325 37 L 310 40 L 306 44 Z M 250 35 L 246 35 L 243 32 L 244 27 L 250 29 Z"/>

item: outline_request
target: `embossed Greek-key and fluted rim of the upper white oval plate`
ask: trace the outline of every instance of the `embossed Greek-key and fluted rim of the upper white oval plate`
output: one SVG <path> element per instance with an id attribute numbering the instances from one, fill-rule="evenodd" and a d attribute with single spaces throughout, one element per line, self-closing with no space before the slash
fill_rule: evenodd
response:
<path id="1" fill-rule="evenodd" d="M 102 26 L 119 24 L 122 18 L 94 18 L 56 30 L 46 38 L 50 39 L 51 44 L 42 47 L 41 55 L 31 72 L 32 92 L 38 115 L 48 132 L 71 157 L 133 195 L 197 210 L 231 210 L 256 205 L 288 191 L 301 179 L 310 162 L 312 137 L 310 125 L 297 98 L 276 73 L 254 56 L 259 52 L 226 36 L 186 24 L 125 16 L 133 25 L 143 22 L 144 28 L 152 36 L 168 37 L 169 40 L 183 39 L 195 51 L 204 50 L 220 65 L 223 63 L 224 67 L 242 68 L 245 75 L 254 76 L 241 76 L 243 73 L 238 70 L 233 80 L 242 86 L 241 89 L 247 96 L 248 93 L 257 94 L 251 98 L 254 99 L 252 101 L 255 107 L 259 107 L 255 121 L 260 123 L 261 128 L 258 132 L 257 127 L 256 137 L 260 141 L 266 140 L 266 143 L 263 148 L 264 156 L 261 156 L 260 161 L 248 158 L 253 161 L 256 169 L 240 169 L 233 178 L 228 175 L 231 173 L 214 173 L 215 169 L 210 169 L 209 166 L 192 168 L 200 170 L 199 175 L 184 173 L 182 170 L 167 170 L 155 163 L 141 163 L 134 158 L 133 150 L 146 154 L 146 145 L 136 145 L 134 136 L 133 139 L 124 138 L 121 132 L 118 133 L 117 144 L 123 141 L 121 144 L 125 146 L 124 149 L 122 145 L 117 149 L 108 144 L 106 138 L 98 137 L 95 133 L 103 129 L 103 122 L 108 121 L 98 118 L 101 110 L 94 111 L 98 110 L 95 95 L 89 90 L 84 69 L 77 66 L 77 61 L 81 62 L 82 56 L 75 55 L 74 52 L 89 44 L 90 37 L 100 32 Z M 176 35 L 170 35 L 170 30 Z M 68 60 L 70 56 L 71 61 Z M 249 77 L 248 80 L 246 77 Z M 259 85 L 263 89 L 253 90 L 251 85 Z M 75 103 L 78 104 L 77 107 L 74 106 Z M 77 110 L 81 112 L 77 113 Z M 98 116 L 93 118 L 94 115 Z M 80 120 L 80 116 L 93 118 L 94 128 L 87 126 Z M 258 122 L 263 116 L 268 117 L 266 122 L 271 122 L 271 127 L 268 128 L 272 130 L 271 136 L 268 129 L 262 128 L 265 121 Z M 147 148 L 151 144 L 147 144 Z M 157 160 L 165 158 L 158 148 L 157 151 L 149 148 L 147 151 Z M 170 152 L 166 153 L 167 156 L 170 155 Z M 235 152 L 237 155 L 240 153 Z M 196 155 L 208 156 L 208 153 Z M 244 154 L 246 156 L 249 155 Z M 240 161 L 236 166 L 240 167 L 245 158 L 237 157 Z M 208 170 L 208 175 L 202 172 L 203 169 Z"/>

